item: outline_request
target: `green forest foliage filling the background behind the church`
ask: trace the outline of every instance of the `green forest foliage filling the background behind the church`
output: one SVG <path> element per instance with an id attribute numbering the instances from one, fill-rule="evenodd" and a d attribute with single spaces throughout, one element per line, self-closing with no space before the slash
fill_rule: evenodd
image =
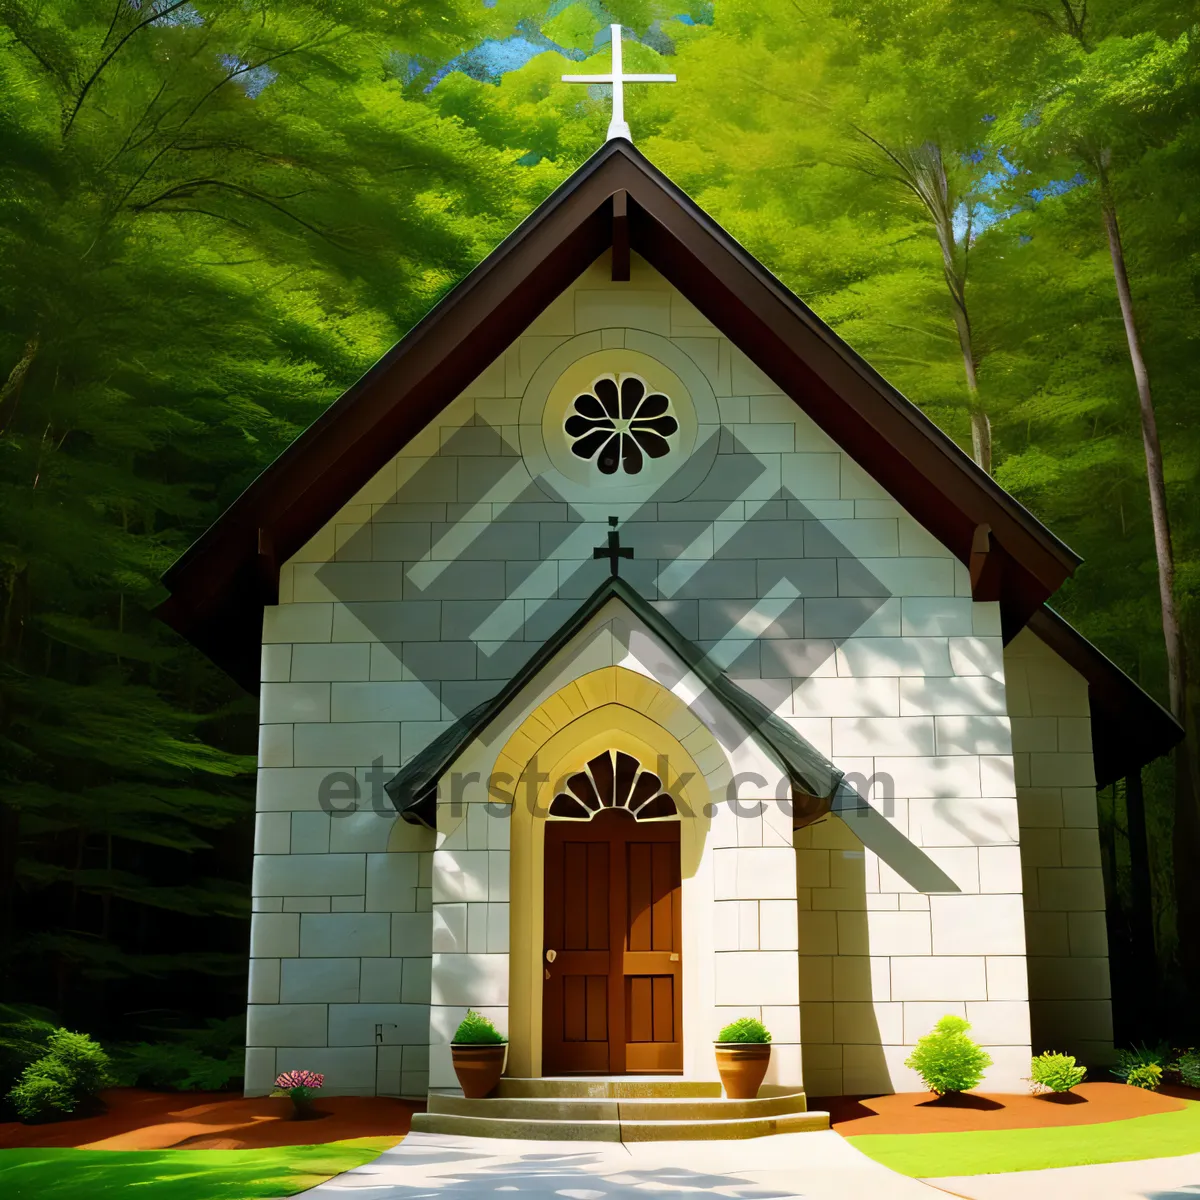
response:
<path id="1" fill-rule="evenodd" d="M 628 70 L 679 77 L 630 89 L 640 148 L 964 446 L 983 407 L 996 479 L 1085 556 L 1056 606 L 1165 698 L 1098 200 L 1121 214 L 1194 647 L 1200 122 L 1180 6 L 11 0 L 0 917 L 31 998 L 100 986 L 119 1008 L 134 980 L 167 1000 L 191 972 L 221 1012 L 240 1002 L 252 716 L 150 618 L 158 575 L 601 143 L 602 89 L 558 77 L 607 68 L 612 20 Z M 512 35 L 546 48 L 467 71 Z M 914 163 L 936 166 L 936 203 Z M 1124 902 L 1121 793 L 1106 804 Z"/>

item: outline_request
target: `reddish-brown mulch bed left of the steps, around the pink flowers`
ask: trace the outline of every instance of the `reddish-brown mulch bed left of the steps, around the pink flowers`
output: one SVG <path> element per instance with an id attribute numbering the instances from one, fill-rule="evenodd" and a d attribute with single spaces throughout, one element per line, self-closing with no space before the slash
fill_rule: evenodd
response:
<path id="1" fill-rule="evenodd" d="M 283 1098 L 229 1092 L 149 1092 L 116 1087 L 101 1092 L 104 1110 L 49 1124 L 0 1123 L 0 1150 L 74 1146 L 84 1150 L 258 1150 L 313 1146 L 349 1138 L 408 1133 L 425 1105 L 374 1096 L 329 1096 L 314 1102 L 311 1120 L 292 1117 Z"/>

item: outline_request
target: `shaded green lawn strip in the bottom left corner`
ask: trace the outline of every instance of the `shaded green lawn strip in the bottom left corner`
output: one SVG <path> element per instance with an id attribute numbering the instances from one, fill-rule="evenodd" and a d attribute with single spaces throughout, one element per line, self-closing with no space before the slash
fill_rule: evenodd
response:
<path id="1" fill-rule="evenodd" d="M 270 1150 L 0 1150 L 5 1200 L 268 1200 L 370 1163 L 394 1138 Z"/>

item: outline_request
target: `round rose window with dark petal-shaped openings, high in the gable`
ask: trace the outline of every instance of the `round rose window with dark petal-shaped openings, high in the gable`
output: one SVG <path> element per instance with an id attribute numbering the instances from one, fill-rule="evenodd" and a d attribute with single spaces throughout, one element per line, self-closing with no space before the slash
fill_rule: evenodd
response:
<path id="1" fill-rule="evenodd" d="M 618 469 L 636 475 L 647 458 L 662 458 L 671 451 L 667 440 L 679 430 L 671 415 L 671 401 L 649 391 L 637 376 L 604 377 L 575 397 L 565 430 L 571 454 L 595 460 L 602 475 Z"/>

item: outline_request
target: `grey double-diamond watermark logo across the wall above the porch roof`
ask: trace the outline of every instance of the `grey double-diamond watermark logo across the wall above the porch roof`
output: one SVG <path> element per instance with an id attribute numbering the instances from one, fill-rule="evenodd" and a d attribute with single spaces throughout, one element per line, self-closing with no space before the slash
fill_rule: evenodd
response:
<path id="1" fill-rule="evenodd" d="M 395 700 L 407 760 L 494 695 L 602 582 L 608 564 L 592 552 L 608 514 L 624 510 L 620 538 L 635 557 L 622 576 L 776 708 L 848 637 L 899 632 L 898 601 L 782 486 L 778 464 L 720 436 L 726 452 L 686 504 L 671 505 L 685 514 L 676 518 L 658 497 L 568 503 L 530 478 L 505 431 L 476 418 L 446 432 L 437 455 L 396 460 L 397 486 L 368 521 L 301 551 L 314 560 L 295 562 L 294 600 L 340 601 L 335 641 L 383 643 L 372 680 L 412 684 Z"/>

